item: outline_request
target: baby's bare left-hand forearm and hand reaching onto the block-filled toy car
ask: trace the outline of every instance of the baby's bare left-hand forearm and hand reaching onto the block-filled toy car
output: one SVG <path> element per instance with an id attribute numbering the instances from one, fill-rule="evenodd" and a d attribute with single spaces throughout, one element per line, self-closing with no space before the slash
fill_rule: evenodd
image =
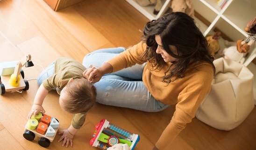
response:
<path id="1" fill-rule="evenodd" d="M 43 109 L 43 100 L 45 98 L 45 96 L 48 94 L 48 90 L 46 90 L 43 85 L 40 85 L 39 89 L 36 92 L 36 97 L 34 99 L 34 104 L 31 107 L 30 112 L 28 113 L 28 119 L 30 119 L 32 117 L 32 115 L 36 116 L 36 114 L 40 111 L 43 112 L 43 114 L 45 113 L 44 109 Z"/>

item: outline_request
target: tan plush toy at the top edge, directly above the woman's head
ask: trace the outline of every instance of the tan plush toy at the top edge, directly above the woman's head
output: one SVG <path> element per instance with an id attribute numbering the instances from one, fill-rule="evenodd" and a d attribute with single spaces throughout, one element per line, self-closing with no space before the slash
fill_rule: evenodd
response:
<path id="1" fill-rule="evenodd" d="M 169 3 L 172 12 L 183 12 L 194 17 L 194 6 L 191 0 L 171 0 Z"/>

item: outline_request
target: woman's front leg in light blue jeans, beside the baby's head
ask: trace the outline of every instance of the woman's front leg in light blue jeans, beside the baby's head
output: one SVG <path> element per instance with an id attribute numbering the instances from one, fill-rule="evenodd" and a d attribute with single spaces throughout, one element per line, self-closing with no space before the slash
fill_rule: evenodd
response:
<path id="1" fill-rule="evenodd" d="M 162 111 L 169 106 L 157 101 L 142 81 L 125 81 L 125 78 L 108 75 L 94 86 L 97 89 L 96 101 L 101 104 L 148 112 Z"/>

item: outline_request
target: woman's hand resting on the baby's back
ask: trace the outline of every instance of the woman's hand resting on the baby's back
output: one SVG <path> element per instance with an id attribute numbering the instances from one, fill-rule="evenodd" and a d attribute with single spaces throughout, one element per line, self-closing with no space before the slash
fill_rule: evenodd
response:
<path id="1" fill-rule="evenodd" d="M 96 83 L 100 81 L 101 77 L 103 76 L 103 72 L 100 68 L 88 68 L 83 72 L 83 76 L 87 78 L 91 83 Z"/>

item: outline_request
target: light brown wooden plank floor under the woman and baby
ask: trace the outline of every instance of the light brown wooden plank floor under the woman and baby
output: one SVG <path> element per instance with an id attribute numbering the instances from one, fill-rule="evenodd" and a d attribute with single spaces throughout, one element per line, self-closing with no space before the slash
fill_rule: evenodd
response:
<path id="1" fill-rule="evenodd" d="M 38 89 L 36 80 L 43 68 L 58 57 L 71 57 L 82 62 L 85 54 L 99 48 L 131 46 L 139 42 L 144 24 L 149 21 L 125 0 L 85 0 L 59 12 L 43 0 L 0 1 L 0 62 L 19 60 L 30 53 L 37 64 L 24 68 L 29 90 L 0 96 L 0 149 L 40 150 L 34 141 L 22 137 L 27 115 Z M 41 66 L 43 67 L 41 67 Z M 57 92 L 50 92 L 43 107 L 56 117 L 60 130 L 66 129 L 72 114 L 58 104 Z M 85 124 L 74 137 L 73 150 L 97 150 L 89 144 L 95 124 L 106 118 L 141 137 L 135 150 L 151 150 L 175 106 L 161 112 L 148 113 L 96 104 L 88 112 Z M 213 112 L 214 113 L 214 112 Z M 57 140 L 50 150 L 66 150 Z M 256 108 L 247 119 L 231 131 L 214 129 L 197 118 L 188 124 L 167 150 L 256 150 Z"/>

